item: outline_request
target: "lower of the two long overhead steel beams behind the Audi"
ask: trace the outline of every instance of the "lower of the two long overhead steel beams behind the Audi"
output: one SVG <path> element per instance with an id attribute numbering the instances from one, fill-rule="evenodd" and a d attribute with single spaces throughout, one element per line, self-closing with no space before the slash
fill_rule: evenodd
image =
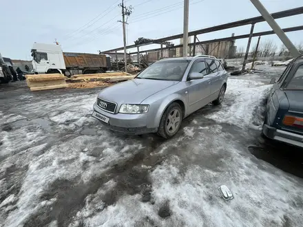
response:
<path id="1" fill-rule="evenodd" d="M 291 27 L 291 28 L 284 28 L 283 31 L 284 32 L 295 32 L 295 31 L 300 31 L 303 30 L 303 25 L 302 26 L 296 26 L 296 27 Z M 269 34 L 275 34 L 275 32 L 273 32 L 273 30 L 271 31 L 266 31 L 266 32 L 255 32 L 253 33 L 253 37 L 256 36 L 267 36 Z M 240 36 L 229 36 L 226 38 L 221 38 L 221 39 L 212 39 L 212 40 L 207 40 L 207 41 L 200 41 L 197 42 L 196 45 L 202 45 L 202 44 L 208 44 L 208 43 L 217 43 L 217 42 L 222 42 L 222 41 L 233 41 L 236 39 L 247 39 L 249 38 L 250 34 L 242 34 Z M 198 37 L 197 37 L 198 38 Z M 194 45 L 194 43 L 189 43 L 189 45 Z M 178 48 L 178 47 L 182 47 L 182 45 L 175 45 L 174 48 Z M 160 48 L 156 48 L 156 49 L 151 49 L 151 50 L 145 50 L 144 52 L 152 52 L 152 51 L 158 51 L 161 50 Z M 167 47 L 163 48 L 163 50 L 167 50 Z M 142 53 L 143 51 L 141 51 L 140 53 Z M 129 54 L 136 54 L 137 52 L 131 52 Z"/>

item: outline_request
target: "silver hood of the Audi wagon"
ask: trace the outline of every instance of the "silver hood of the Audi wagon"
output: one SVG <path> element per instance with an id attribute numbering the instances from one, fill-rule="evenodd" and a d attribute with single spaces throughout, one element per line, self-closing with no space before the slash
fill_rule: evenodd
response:
<path id="1" fill-rule="evenodd" d="M 179 82 L 134 78 L 133 80 L 118 83 L 117 85 L 103 89 L 103 91 L 98 94 L 98 98 L 117 102 L 118 104 L 140 104 L 145 98 L 177 83 Z"/>

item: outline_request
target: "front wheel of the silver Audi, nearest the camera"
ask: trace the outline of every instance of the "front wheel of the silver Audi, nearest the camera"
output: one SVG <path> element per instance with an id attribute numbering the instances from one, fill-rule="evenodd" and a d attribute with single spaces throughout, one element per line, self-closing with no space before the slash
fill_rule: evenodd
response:
<path id="1" fill-rule="evenodd" d="M 158 135 L 163 138 L 171 138 L 180 129 L 182 122 L 182 109 L 177 102 L 171 103 L 165 110 L 158 128 Z"/>

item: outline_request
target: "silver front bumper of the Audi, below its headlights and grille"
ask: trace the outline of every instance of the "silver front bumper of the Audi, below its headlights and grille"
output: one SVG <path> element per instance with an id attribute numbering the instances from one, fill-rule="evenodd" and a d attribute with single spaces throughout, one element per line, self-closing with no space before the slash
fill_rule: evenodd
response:
<path id="1" fill-rule="evenodd" d="M 108 124 L 103 121 L 101 122 L 113 131 L 129 135 L 140 135 L 158 131 L 157 128 L 147 128 L 147 114 L 110 114 L 98 107 L 96 102 L 94 103 L 94 111 L 109 118 Z"/>

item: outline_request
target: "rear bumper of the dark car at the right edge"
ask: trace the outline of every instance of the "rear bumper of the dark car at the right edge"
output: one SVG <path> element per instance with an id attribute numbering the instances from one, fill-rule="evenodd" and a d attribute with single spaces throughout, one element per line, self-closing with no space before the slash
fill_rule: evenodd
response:
<path id="1" fill-rule="evenodd" d="M 269 125 L 263 125 L 263 133 L 268 138 L 273 140 L 278 140 L 280 142 L 286 142 L 288 144 L 295 145 L 297 147 L 303 148 L 303 136 L 291 133 L 289 131 L 284 131 L 280 129 L 275 129 Z"/>

